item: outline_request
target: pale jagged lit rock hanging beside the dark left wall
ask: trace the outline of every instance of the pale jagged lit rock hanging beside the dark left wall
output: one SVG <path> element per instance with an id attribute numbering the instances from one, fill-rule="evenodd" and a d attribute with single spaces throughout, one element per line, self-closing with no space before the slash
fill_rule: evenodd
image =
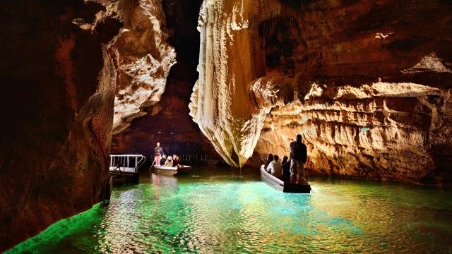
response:
<path id="1" fill-rule="evenodd" d="M 160 0 L 119 1 L 107 6 L 124 22 L 113 44 L 117 50 L 117 95 L 114 99 L 113 133 L 146 114 L 143 109 L 160 101 L 169 69 L 176 62 L 167 42 L 165 15 Z"/>

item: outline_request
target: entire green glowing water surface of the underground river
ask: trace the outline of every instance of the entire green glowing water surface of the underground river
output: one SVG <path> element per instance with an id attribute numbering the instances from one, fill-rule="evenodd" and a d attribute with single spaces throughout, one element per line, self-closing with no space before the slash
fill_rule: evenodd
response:
<path id="1" fill-rule="evenodd" d="M 290 194 L 215 171 L 143 175 L 7 253 L 452 253 L 450 190 L 311 178 Z"/>

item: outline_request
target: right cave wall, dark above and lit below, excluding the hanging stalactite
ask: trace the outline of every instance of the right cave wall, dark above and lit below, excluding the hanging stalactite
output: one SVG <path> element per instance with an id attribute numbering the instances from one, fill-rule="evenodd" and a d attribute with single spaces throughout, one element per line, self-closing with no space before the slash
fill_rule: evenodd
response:
<path id="1" fill-rule="evenodd" d="M 405 1 L 283 6 L 263 23 L 266 71 L 304 89 L 267 115 L 256 152 L 288 155 L 301 133 L 311 171 L 450 184 L 451 10 Z"/>

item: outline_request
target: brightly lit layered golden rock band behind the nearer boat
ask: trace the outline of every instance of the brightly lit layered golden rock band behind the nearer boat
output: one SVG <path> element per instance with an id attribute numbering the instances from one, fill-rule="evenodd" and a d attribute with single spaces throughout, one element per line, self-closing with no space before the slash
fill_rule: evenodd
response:
<path id="1" fill-rule="evenodd" d="M 307 167 L 319 174 L 417 181 L 448 164 L 438 157 L 447 159 L 441 150 L 451 146 L 450 90 L 414 83 L 326 90 L 314 84 L 304 104 L 273 109 L 256 152 L 288 155 L 301 133 Z"/>

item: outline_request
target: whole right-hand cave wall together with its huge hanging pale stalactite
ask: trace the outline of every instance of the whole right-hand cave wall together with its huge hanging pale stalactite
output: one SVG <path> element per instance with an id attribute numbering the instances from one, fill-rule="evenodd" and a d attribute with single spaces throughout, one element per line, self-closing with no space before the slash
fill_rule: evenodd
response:
<path id="1" fill-rule="evenodd" d="M 444 1 L 206 1 L 191 115 L 234 166 L 256 143 L 261 157 L 287 154 L 301 133 L 313 171 L 446 183 L 451 10 Z"/>

